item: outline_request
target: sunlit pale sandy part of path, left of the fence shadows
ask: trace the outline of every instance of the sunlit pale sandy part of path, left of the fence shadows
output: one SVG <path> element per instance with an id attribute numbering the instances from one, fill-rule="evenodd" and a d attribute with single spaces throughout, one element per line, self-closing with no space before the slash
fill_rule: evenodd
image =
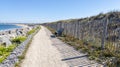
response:
<path id="1" fill-rule="evenodd" d="M 45 28 L 41 27 L 34 36 L 21 67 L 68 67 L 61 59 L 61 54 L 52 46 Z"/>

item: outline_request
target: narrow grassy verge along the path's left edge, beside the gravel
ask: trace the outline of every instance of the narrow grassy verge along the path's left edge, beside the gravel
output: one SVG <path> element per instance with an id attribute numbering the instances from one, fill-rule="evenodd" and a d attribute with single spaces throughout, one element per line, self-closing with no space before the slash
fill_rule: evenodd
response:
<path id="1" fill-rule="evenodd" d="M 30 31 L 28 32 L 28 35 L 31 35 L 31 34 L 34 34 L 34 35 L 35 35 L 39 30 L 40 30 L 40 27 L 37 27 L 36 29 L 30 30 Z M 28 48 L 29 48 L 29 46 L 30 46 L 30 44 L 31 44 L 31 42 L 32 42 L 32 39 L 33 39 L 34 35 L 33 35 L 32 38 L 30 39 L 29 43 L 26 45 L 25 51 L 23 52 L 23 54 L 18 57 L 18 58 L 19 58 L 19 62 L 15 64 L 15 67 L 20 67 L 20 64 L 22 63 L 23 59 L 25 59 L 25 55 L 26 55 L 27 50 L 28 50 Z"/>

